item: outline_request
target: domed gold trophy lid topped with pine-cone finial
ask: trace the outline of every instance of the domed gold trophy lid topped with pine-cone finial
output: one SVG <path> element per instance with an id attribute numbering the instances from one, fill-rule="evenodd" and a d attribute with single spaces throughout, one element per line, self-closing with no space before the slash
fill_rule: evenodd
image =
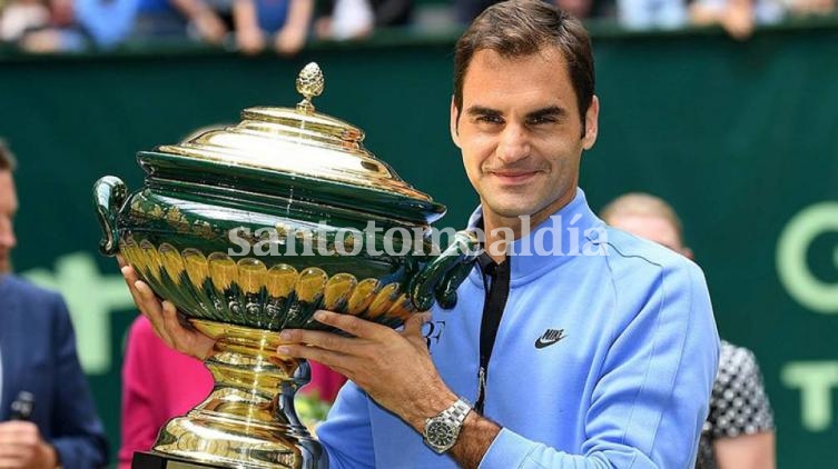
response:
<path id="1" fill-rule="evenodd" d="M 188 162 L 184 168 L 190 170 L 211 166 L 215 172 L 223 168 L 234 188 L 237 177 L 256 177 L 274 192 L 290 189 L 297 197 L 307 194 L 309 201 L 415 222 L 432 222 L 445 213 L 444 206 L 414 189 L 364 148 L 363 130 L 315 111 L 312 99 L 324 89 L 316 63 L 300 71 L 296 84 L 303 94 L 296 108 L 245 109 L 238 124 L 205 129 L 178 144 L 140 152 L 140 162 L 152 174 L 155 161 L 177 164 L 171 159 Z M 319 196 L 325 197 L 319 200 Z"/>

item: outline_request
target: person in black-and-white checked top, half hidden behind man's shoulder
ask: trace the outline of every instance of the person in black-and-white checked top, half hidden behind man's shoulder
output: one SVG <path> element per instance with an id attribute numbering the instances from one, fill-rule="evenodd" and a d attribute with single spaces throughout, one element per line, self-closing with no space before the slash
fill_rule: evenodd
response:
<path id="1" fill-rule="evenodd" d="M 663 245 L 692 259 L 681 220 L 666 201 L 648 193 L 627 193 L 602 210 L 614 228 Z M 753 353 L 721 342 L 719 375 L 710 415 L 701 432 L 697 468 L 773 469 L 773 413 Z"/>

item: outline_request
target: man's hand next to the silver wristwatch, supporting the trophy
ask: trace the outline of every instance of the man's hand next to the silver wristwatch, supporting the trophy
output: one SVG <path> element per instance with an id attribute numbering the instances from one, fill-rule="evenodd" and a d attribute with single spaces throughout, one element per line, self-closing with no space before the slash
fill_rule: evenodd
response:
<path id="1" fill-rule="evenodd" d="M 422 431 L 425 419 L 457 399 L 436 371 L 422 337 L 422 325 L 428 318 L 427 313 L 414 315 L 404 330 L 395 331 L 354 316 L 317 311 L 316 320 L 354 337 L 289 329 L 280 335 L 288 343 L 277 352 L 326 365 Z"/>

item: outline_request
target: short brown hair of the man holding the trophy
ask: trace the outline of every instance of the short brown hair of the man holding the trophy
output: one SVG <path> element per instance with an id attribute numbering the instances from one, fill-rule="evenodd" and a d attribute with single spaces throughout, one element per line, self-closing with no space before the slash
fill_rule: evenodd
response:
<path id="1" fill-rule="evenodd" d="M 463 81 L 475 52 L 489 49 L 502 57 L 524 57 L 545 47 L 558 48 L 568 61 L 584 136 L 585 112 L 594 93 L 591 38 L 578 19 L 543 0 L 495 3 L 483 11 L 457 40 L 454 50 L 454 104 L 457 112 L 463 108 Z"/>

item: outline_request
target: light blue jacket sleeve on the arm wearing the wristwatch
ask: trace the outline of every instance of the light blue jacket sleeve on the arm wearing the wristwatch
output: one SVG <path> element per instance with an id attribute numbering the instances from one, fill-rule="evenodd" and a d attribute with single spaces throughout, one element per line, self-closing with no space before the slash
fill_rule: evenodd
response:
<path id="1" fill-rule="evenodd" d="M 692 468 L 718 368 L 719 339 L 700 269 L 662 267 L 637 313 L 613 331 L 586 411 L 580 455 L 503 429 L 481 468 Z M 608 333 L 603 331 L 603 333 Z"/>

